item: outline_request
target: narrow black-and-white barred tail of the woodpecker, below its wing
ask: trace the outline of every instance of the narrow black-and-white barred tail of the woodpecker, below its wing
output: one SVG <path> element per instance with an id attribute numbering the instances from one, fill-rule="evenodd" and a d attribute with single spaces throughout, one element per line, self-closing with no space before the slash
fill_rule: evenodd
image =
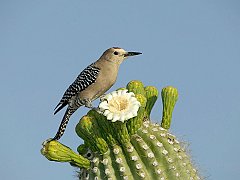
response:
<path id="1" fill-rule="evenodd" d="M 52 140 L 59 140 L 62 137 L 62 135 L 64 134 L 65 129 L 67 127 L 68 121 L 69 121 L 71 115 L 75 111 L 76 111 L 76 109 L 73 109 L 73 108 L 70 108 L 70 107 L 67 108 L 67 110 L 66 110 L 66 112 L 63 116 L 62 122 L 61 122 L 61 124 L 58 128 L 58 131 L 57 131 L 55 137 Z"/>

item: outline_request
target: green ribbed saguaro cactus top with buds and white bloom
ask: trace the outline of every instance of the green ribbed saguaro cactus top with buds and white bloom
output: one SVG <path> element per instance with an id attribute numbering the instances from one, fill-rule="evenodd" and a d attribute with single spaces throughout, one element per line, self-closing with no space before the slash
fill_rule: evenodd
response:
<path id="1" fill-rule="evenodd" d="M 190 157 L 168 129 L 177 89 L 162 90 L 161 126 L 150 121 L 158 90 L 131 81 L 101 99 L 99 110 L 90 110 L 76 126 L 84 140 L 74 153 L 57 141 L 45 141 L 42 154 L 51 161 L 80 168 L 79 179 L 200 179 Z"/>

